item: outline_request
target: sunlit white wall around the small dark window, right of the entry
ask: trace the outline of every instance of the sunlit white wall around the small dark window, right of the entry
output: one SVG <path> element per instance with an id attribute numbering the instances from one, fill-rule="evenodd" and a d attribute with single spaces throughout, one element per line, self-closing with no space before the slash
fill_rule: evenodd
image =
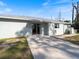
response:
<path id="1" fill-rule="evenodd" d="M 59 23 L 59 28 L 55 28 L 54 23 L 49 23 L 49 36 L 63 35 L 66 29 L 70 29 L 71 34 L 75 33 L 75 30 L 72 27 L 68 28 L 68 25 Z"/>

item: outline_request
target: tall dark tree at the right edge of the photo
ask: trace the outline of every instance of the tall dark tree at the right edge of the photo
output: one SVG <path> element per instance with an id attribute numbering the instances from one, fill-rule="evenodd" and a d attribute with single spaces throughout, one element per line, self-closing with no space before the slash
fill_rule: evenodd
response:
<path id="1" fill-rule="evenodd" d="M 73 10 L 72 10 L 72 24 L 73 27 L 77 30 L 79 30 L 79 2 L 77 2 L 77 6 L 72 4 L 73 6 Z M 74 19 L 74 10 L 76 10 L 76 16 L 75 16 L 75 20 Z"/>

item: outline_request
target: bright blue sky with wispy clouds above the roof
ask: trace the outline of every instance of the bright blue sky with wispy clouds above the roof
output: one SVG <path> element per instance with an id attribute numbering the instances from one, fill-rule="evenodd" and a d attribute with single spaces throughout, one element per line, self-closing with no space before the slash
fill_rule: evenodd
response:
<path id="1" fill-rule="evenodd" d="M 0 14 L 71 19 L 72 0 L 0 0 Z M 78 0 L 73 0 L 77 2 Z"/>

